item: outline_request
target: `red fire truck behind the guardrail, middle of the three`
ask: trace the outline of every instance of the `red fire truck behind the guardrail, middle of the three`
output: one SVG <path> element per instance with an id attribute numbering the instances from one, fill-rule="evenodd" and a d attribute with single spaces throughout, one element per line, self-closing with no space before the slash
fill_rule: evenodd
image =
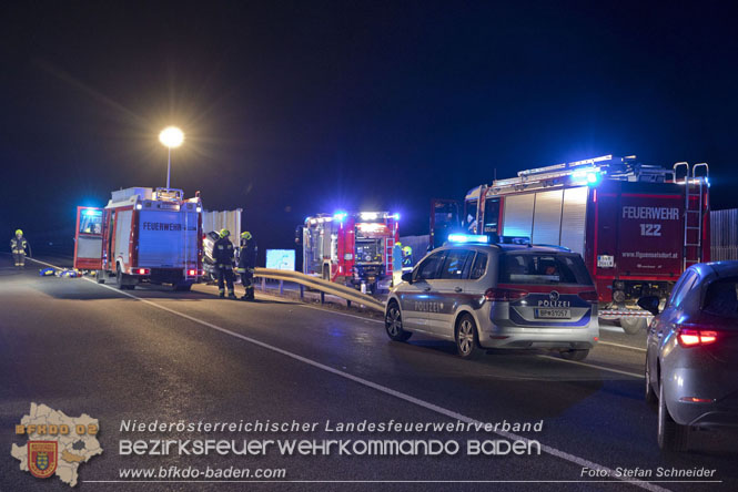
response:
<path id="1" fill-rule="evenodd" d="M 387 212 L 319 214 L 297 228 L 303 273 L 375 293 L 392 277 L 400 215 Z"/>

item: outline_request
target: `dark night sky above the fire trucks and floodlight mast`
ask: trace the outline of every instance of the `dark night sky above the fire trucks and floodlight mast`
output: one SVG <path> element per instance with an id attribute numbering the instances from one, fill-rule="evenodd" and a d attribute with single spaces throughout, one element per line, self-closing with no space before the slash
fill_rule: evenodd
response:
<path id="1" fill-rule="evenodd" d="M 105 2 L 0 7 L 0 230 L 172 184 L 244 208 L 262 248 L 305 215 L 400 212 L 603 154 L 710 163 L 738 206 L 732 2 Z M 57 240 L 57 239 L 52 239 Z"/>

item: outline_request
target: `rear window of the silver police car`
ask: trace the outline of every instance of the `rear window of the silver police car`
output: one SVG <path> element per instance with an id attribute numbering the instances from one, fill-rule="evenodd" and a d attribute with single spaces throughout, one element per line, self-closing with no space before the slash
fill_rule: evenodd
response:
<path id="1" fill-rule="evenodd" d="M 592 285 L 592 278 L 578 255 L 505 253 L 499 257 L 499 283 Z"/>

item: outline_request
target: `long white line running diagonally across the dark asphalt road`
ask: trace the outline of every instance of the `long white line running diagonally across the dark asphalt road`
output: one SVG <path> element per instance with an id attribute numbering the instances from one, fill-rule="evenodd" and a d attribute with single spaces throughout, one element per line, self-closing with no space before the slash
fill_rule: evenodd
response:
<path id="1" fill-rule="evenodd" d="M 39 262 L 39 263 L 42 263 L 42 262 Z M 46 265 L 49 265 L 49 264 L 46 264 Z M 53 265 L 50 265 L 50 266 L 53 267 L 53 268 L 58 268 L 58 267 L 54 267 Z M 451 419 L 458 420 L 458 421 L 469 423 L 469 424 L 473 424 L 473 426 L 474 424 L 477 424 L 477 426 L 482 424 L 483 426 L 482 422 L 479 422 L 478 420 L 475 420 L 471 417 L 466 417 L 462 413 L 455 412 L 453 410 L 445 409 L 443 407 L 439 407 L 437 404 L 431 403 L 431 402 L 425 401 L 425 400 L 421 400 L 419 398 L 412 397 L 412 396 L 403 393 L 401 391 L 393 390 L 392 388 L 387 388 L 385 386 L 382 386 L 382 385 L 378 385 L 376 382 L 370 381 L 368 379 L 360 378 L 360 377 L 351 375 L 348 372 L 344 372 L 342 370 L 332 368 L 330 366 L 325 366 L 324 363 L 321 363 L 321 362 L 317 362 L 315 360 L 309 359 L 306 357 L 300 356 L 297 353 L 281 349 L 279 347 L 274 347 L 272 345 L 265 344 L 263 341 L 259 341 L 259 340 L 256 340 L 254 338 L 251 338 L 251 337 L 246 337 L 245 335 L 236 334 L 235 331 L 231 331 L 226 328 L 222 328 L 218 325 L 213 325 L 212 322 L 204 321 L 202 319 L 195 318 L 195 317 L 190 316 L 190 315 L 185 315 L 184 312 L 176 311 L 174 309 L 168 308 L 168 307 L 162 306 L 160 304 L 152 303 L 151 300 L 144 299 L 142 297 L 134 296 L 133 294 L 130 294 L 130 293 L 127 293 L 127 291 L 123 291 L 123 290 L 119 290 L 117 288 L 107 286 L 104 284 L 98 284 L 97 281 L 94 281 L 92 279 L 84 278 L 84 280 L 88 280 L 89 283 L 94 284 L 97 286 L 110 289 L 110 290 L 112 290 L 114 293 L 118 293 L 122 296 L 130 297 L 131 299 L 135 299 L 140 303 L 143 303 L 143 304 L 149 305 L 151 307 L 154 307 L 156 309 L 161 309 L 161 310 L 170 312 L 174 316 L 179 316 L 179 317 L 188 319 L 192 322 L 196 322 L 198 325 L 202 325 L 202 326 L 208 327 L 212 330 L 220 331 L 224 335 L 229 335 L 229 336 L 234 337 L 234 338 L 239 338 L 241 340 L 247 341 L 249 344 L 255 345 L 255 346 L 264 348 L 266 350 L 271 350 L 271 351 L 276 352 L 276 353 L 281 353 L 281 355 L 283 355 L 285 357 L 289 357 L 291 359 L 297 360 L 300 362 L 306 363 L 309 366 L 315 367 L 315 368 L 324 370 L 326 372 L 331 372 L 332 375 L 340 376 L 342 378 L 348 379 L 351 381 L 354 381 L 354 382 L 356 382 L 358 385 L 362 385 L 362 386 L 365 386 L 367 388 L 372 388 L 372 389 L 374 389 L 376 391 L 380 391 L 382 393 L 390 394 L 391 397 L 395 397 L 395 398 L 397 398 L 400 400 L 403 400 L 403 401 L 406 401 L 408 403 L 416 404 L 416 406 L 422 407 L 426 410 L 431 410 L 433 412 L 439 413 L 439 414 L 448 417 Z M 492 431 L 492 433 L 495 433 L 495 434 L 497 434 L 499 437 L 503 437 L 505 439 L 508 439 L 510 441 L 518 441 L 518 440 L 519 441 L 525 441 L 525 442 L 529 441 L 529 439 L 524 438 L 522 435 L 514 434 L 512 432 Z M 613 476 L 616 480 L 619 480 L 614 470 L 611 470 L 607 467 L 604 467 L 601 464 L 597 464 L 597 463 L 595 463 L 593 461 L 589 461 L 587 459 L 579 458 L 579 457 L 574 455 L 574 454 L 569 454 L 565 451 L 558 450 L 556 448 L 552 448 L 552 447 L 543 444 L 543 443 L 540 444 L 540 450 L 544 451 L 547 454 L 550 454 L 552 457 L 559 458 L 564 461 L 568 461 L 569 463 L 574 463 L 574 464 L 579 465 L 579 467 L 587 467 L 587 468 L 593 469 L 593 470 L 599 470 L 603 473 L 607 473 L 608 476 Z M 627 481 L 627 483 L 633 483 L 634 485 L 637 485 L 637 486 L 640 486 L 643 489 L 654 491 L 654 492 L 664 492 L 664 491 L 667 490 L 667 489 L 664 489 L 664 488 L 658 486 L 656 484 L 648 483 L 648 482 L 640 481 L 640 480 Z"/>

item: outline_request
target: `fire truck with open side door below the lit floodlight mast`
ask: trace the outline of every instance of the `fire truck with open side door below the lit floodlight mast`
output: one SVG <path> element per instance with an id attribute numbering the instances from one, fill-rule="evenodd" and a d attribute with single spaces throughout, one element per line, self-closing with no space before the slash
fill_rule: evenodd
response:
<path id="1" fill-rule="evenodd" d="M 104 208 L 78 207 L 74 267 L 121 289 L 141 283 L 190 290 L 202 276 L 202 203 L 181 189 L 112 192 Z"/>

